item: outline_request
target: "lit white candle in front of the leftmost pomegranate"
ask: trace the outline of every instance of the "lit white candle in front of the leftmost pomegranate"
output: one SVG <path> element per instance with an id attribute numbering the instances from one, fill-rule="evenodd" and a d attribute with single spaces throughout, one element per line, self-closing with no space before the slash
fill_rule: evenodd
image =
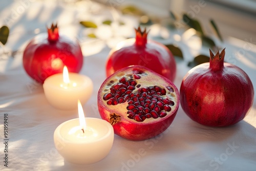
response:
<path id="1" fill-rule="evenodd" d="M 43 88 L 52 106 L 62 110 L 74 110 L 77 108 L 77 99 L 82 104 L 89 100 L 93 92 L 93 82 L 88 76 L 69 73 L 65 66 L 63 74 L 48 77 Z"/>

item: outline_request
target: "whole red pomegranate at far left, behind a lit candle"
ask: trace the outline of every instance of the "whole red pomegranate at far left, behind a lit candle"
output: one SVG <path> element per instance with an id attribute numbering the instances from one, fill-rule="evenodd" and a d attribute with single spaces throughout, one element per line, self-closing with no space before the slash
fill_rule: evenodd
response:
<path id="1" fill-rule="evenodd" d="M 23 54 L 23 66 L 30 77 L 40 83 L 53 74 L 61 73 L 67 66 L 70 72 L 78 73 L 83 56 L 78 42 L 59 36 L 57 24 L 48 28 L 48 37 L 35 36 Z"/>

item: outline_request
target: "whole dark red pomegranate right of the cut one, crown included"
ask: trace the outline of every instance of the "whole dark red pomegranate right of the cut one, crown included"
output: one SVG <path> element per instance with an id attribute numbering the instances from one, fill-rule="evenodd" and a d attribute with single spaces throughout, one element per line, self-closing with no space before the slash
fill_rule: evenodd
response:
<path id="1" fill-rule="evenodd" d="M 180 87 L 184 112 L 194 121 L 208 126 L 228 126 L 241 121 L 253 103 L 254 90 L 248 75 L 224 62 L 225 49 L 210 62 L 191 69 Z"/>

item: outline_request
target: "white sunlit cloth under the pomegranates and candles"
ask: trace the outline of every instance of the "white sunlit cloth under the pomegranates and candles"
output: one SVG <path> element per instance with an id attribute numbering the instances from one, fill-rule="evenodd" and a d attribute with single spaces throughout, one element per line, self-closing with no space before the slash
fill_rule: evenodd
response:
<path id="1" fill-rule="evenodd" d="M 25 1 L 0 3 L 0 26 L 6 24 L 5 18 L 11 17 L 12 10 L 22 5 L 21 2 Z M 81 17 L 79 14 L 88 7 L 63 8 L 51 1 L 29 2 L 31 3 L 24 12 L 9 23 L 11 34 L 5 50 L 23 50 L 27 41 L 34 36 L 29 31 L 36 28 L 43 31 L 46 25 L 56 20 L 65 34 L 74 36 L 83 33 L 84 29 L 80 27 L 77 17 Z M 93 5 L 91 7 L 97 8 Z M 75 19 L 67 17 L 69 15 Z M 131 23 L 136 25 L 133 21 L 131 19 Z M 133 25 L 129 29 L 132 30 L 132 27 Z M 116 37 L 117 40 L 122 39 L 121 36 Z M 104 65 L 110 51 L 105 43 L 111 44 L 107 40 L 82 44 L 84 63 L 80 73 L 92 78 L 94 83 L 93 95 L 83 105 L 87 117 L 100 118 L 97 111 L 97 91 L 105 79 Z M 243 50 L 243 45 L 247 45 L 243 40 L 237 40 L 236 44 L 233 40 L 227 39 L 223 43 L 223 47 L 227 48 L 227 60 L 236 62 L 236 65 L 247 72 L 255 88 L 255 45 L 248 44 L 253 48 L 245 49 L 245 56 L 248 58 L 232 58 L 228 54 L 238 54 L 239 50 Z M 178 44 L 184 49 L 188 46 L 184 42 Z M 207 54 L 208 50 L 202 52 Z M 187 49 L 184 55 L 189 54 Z M 178 88 L 190 69 L 186 67 L 186 62 L 177 63 L 175 84 Z M 250 113 L 236 125 L 221 128 L 200 125 L 189 119 L 180 106 L 174 122 L 163 134 L 138 142 L 115 135 L 113 147 L 106 158 L 91 165 L 75 165 L 63 161 L 57 153 L 53 132 L 60 123 L 77 118 L 77 111 L 57 110 L 48 103 L 42 86 L 35 84 L 25 73 L 22 54 L 0 60 L 0 82 L 0 170 L 256 170 L 255 97 Z M 28 87 L 30 85 L 35 87 L 31 90 Z M 5 113 L 8 114 L 9 121 L 8 168 L 3 164 Z"/>

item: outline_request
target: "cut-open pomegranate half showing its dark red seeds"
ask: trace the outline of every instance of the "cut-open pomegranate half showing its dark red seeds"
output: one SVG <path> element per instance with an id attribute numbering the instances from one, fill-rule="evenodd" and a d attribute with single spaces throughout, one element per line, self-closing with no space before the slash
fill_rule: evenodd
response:
<path id="1" fill-rule="evenodd" d="M 129 140 L 152 138 L 169 127 L 179 108 L 179 92 L 167 78 L 130 66 L 106 78 L 98 92 L 102 119 Z"/>

